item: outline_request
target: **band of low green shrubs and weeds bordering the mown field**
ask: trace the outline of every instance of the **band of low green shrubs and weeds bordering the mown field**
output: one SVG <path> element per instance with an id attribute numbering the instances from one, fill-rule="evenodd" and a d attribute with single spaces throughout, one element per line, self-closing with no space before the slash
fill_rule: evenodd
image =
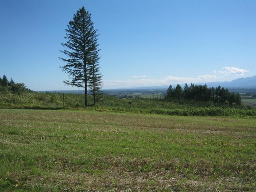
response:
<path id="1" fill-rule="evenodd" d="M 92 101 L 92 96 L 88 101 Z M 105 112 L 132 112 L 179 116 L 234 116 L 256 117 L 256 109 L 245 106 L 230 106 L 213 102 L 170 102 L 159 98 L 116 98 L 101 96 L 97 105 L 84 109 L 82 94 L 26 93 L 0 94 L 0 107 L 25 109 L 73 109 L 99 110 Z"/>

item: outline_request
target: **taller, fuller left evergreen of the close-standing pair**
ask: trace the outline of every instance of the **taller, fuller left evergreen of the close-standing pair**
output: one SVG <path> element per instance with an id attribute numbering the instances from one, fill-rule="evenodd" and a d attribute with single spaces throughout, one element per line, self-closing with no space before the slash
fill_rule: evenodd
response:
<path id="1" fill-rule="evenodd" d="M 62 43 L 62 46 L 67 49 L 61 52 L 68 58 L 60 58 L 67 63 L 60 68 L 70 77 L 70 80 L 65 80 L 64 83 L 84 88 L 85 106 L 88 106 L 89 65 L 92 58 L 93 37 L 96 31 L 91 20 L 91 14 L 82 7 L 74 14 L 73 20 L 68 23 L 65 37 L 67 41 Z"/>

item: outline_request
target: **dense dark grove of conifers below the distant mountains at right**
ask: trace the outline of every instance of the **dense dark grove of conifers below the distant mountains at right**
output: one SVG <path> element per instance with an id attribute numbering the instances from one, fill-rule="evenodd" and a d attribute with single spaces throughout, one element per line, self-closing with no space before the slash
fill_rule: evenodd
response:
<path id="1" fill-rule="evenodd" d="M 185 84 L 184 88 L 177 84 L 175 88 L 169 86 L 166 93 L 166 100 L 194 100 L 196 102 L 214 102 L 218 104 L 241 105 L 241 96 L 239 93 L 230 93 L 228 89 L 218 86 L 208 88 L 207 85 Z"/>

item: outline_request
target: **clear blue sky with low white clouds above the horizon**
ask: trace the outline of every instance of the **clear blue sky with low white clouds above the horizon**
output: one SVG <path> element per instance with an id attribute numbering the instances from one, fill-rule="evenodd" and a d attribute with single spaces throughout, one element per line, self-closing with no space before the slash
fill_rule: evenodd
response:
<path id="1" fill-rule="evenodd" d="M 99 30 L 103 88 L 256 75 L 255 0 L 1 0 L 0 76 L 32 90 L 76 90 L 58 67 L 82 6 Z"/>

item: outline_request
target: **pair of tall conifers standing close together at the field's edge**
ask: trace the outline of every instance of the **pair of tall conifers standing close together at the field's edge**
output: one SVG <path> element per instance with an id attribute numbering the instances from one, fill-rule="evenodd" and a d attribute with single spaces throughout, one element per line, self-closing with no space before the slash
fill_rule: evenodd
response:
<path id="1" fill-rule="evenodd" d="M 68 22 L 66 29 L 65 47 L 60 52 L 67 58 L 60 58 L 66 65 L 60 68 L 66 72 L 70 80 L 64 83 L 71 86 L 84 88 L 85 106 L 88 106 L 88 88 L 92 92 L 94 105 L 101 94 L 102 75 L 99 66 L 98 30 L 94 28 L 91 14 L 84 8 L 80 8 Z"/>

